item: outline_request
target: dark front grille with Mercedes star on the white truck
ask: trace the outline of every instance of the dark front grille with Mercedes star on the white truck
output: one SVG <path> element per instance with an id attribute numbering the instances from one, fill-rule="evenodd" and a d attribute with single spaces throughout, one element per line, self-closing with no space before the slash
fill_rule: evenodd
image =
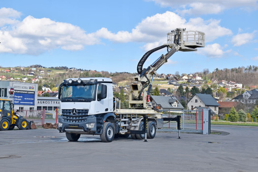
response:
<path id="1" fill-rule="evenodd" d="M 77 114 L 73 113 L 74 109 L 62 109 L 62 116 L 65 122 L 79 123 L 86 122 L 88 116 L 88 110 L 76 109 Z"/>

